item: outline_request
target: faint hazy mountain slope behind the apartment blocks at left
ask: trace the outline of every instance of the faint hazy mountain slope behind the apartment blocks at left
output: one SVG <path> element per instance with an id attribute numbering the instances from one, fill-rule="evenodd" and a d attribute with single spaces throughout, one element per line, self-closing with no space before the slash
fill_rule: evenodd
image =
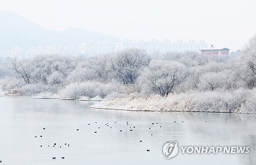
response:
<path id="1" fill-rule="evenodd" d="M 74 45 L 82 42 L 118 42 L 119 39 L 83 29 L 70 28 L 63 32 L 50 31 L 12 12 L 0 11 L 0 50 L 10 50 L 14 46 L 28 49 L 31 46 L 54 44 Z"/>

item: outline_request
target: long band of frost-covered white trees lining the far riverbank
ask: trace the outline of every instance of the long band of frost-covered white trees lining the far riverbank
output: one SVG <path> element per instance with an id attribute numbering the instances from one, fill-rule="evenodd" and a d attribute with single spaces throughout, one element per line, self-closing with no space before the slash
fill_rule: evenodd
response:
<path id="1" fill-rule="evenodd" d="M 118 88 L 121 91 L 117 93 L 143 95 L 252 89 L 256 86 L 256 36 L 236 58 L 202 56 L 196 52 L 150 56 L 144 50 L 129 49 L 90 58 L 55 55 L 13 59 L 10 65 L 0 67 L 0 75 L 3 90 L 10 93 L 15 89 L 20 94 L 58 93 L 70 84 L 114 81 L 115 86 L 129 86 Z M 30 86 L 38 88 L 28 93 L 25 90 Z"/>

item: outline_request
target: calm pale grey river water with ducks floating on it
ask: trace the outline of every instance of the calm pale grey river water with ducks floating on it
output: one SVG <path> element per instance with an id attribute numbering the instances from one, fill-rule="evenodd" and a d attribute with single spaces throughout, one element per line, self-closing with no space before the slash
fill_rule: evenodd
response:
<path id="1" fill-rule="evenodd" d="M 89 108 L 92 103 L 1 96 L 2 164 L 251 165 L 256 162 L 256 116 L 115 111 Z M 107 122 L 109 126 L 105 125 Z M 179 151 L 176 157 L 165 159 L 162 146 L 167 141 L 177 141 L 179 146 L 250 146 L 250 153 L 181 154 Z M 54 143 L 56 146 L 52 147 Z M 65 159 L 61 159 L 63 156 Z"/>

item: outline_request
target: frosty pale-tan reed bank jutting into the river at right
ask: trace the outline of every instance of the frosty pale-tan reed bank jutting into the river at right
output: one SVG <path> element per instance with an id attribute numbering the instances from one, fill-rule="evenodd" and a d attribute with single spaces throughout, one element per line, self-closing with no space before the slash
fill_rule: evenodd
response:
<path id="1" fill-rule="evenodd" d="M 256 114 L 254 92 L 255 90 L 240 89 L 233 92 L 182 93 L 169 95 L 168 97 L 129 95 L 106 99 L 90 105 L 90 107 L 126 111 Z"/>

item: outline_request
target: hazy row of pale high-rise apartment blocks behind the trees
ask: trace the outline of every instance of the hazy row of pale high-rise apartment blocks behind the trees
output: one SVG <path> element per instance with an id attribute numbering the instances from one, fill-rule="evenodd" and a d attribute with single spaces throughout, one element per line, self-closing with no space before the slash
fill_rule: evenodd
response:
<path id="1" fill-rule="evenodd" d="M 33 58 L 40 55 L 56 54 L 60 56 L 83 56 L 92 57 L 101 54 L 108 54 L 124 49 L 138 48 L 145 50 L 148 54 L 163 54 L 167 52 L 185 52 L 196 51 L 207 48 L 208 44 L 204 40 L 180 40 L 170 41 L 168 39 L 157 40 L 152 38 L 150 41 L 124 40 L 120 42 L 83 42 L 78 48 L 73 45 L 55 44 L 50 46 L 31 46 L 29 49 L 24 49 L 20 46 L 14 46 L 11 50 L 0 50 L 0 58 Z"/>

